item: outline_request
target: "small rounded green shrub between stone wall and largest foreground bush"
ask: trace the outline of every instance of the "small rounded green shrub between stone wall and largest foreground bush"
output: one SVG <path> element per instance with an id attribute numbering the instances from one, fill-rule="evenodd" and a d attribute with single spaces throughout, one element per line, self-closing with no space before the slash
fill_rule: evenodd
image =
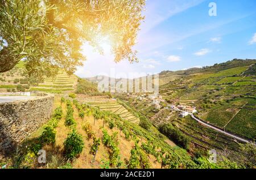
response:
<path id="1" fill-rule="evenodd" d="M 42 144 L 55 143 L 56 130 L 51 126 L 46 126 L 42 135 L 40 136 L 40 142 Z"/>

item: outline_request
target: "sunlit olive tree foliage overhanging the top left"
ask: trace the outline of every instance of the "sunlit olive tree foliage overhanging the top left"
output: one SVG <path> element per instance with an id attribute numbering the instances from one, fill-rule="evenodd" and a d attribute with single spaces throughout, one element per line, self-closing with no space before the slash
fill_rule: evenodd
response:
<path id="1" fill-rule="evenodd" d="M 108 38 L 115 62 L 138 61 L 132 50 L 145 0 L 0 0 L 0 72 L 21 59 L 28 75 L 53 76 L 82 65 L 81 45 Z"/>

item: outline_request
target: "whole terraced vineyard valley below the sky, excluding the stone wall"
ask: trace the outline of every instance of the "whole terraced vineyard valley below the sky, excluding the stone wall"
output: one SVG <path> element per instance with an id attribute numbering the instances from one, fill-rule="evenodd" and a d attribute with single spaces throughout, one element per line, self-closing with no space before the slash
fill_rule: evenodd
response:
<path id="1" fill-rule="evenodd" d="M 54 95 L 53 115 L 19 144 L 18 155 L 13 152 L 3 156 L 1 165 L 7 164 L 9 168 L 254 167 L 255 161 L 249 160 L 242 148 L 254 147 L 256 137 L 255 63 L 255 60 L 234 59 L 204 68 L 164 71 L 159 74 L 158 95 L 100 93 L 95 78 L 90 82 L 62 71 L 53 78 L 33 82 L 21 74 L 24 69 L 19 63 L 11 72 L 1 74 L 1 96 L 20 92 Z M 64 143 L 69 136 L 81 142 L 77 144 L 81 150 L 72 158 Z M 43 143 L 42 138 L 49 141 Z M 46 164 L 36 161 L 38 148 L 47 151 Z M 207 159 L 210 149 L 217 151 L 217 164 Z M 16 161 L 17 156 L 22 160 Z"/>

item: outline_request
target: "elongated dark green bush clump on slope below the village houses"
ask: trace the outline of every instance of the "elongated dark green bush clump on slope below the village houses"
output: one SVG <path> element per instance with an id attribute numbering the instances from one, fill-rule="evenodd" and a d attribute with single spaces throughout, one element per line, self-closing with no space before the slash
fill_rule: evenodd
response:
<path id="1" fill-rule="evenodd" d="M 177 127 L 167 123 L 160 126 L 159 130 L 169 139 L 173 140 L 177 145 L 180 145 L 184 149 L 189 148 L 190 139 L 188 136 L 184 135 Z"/>

